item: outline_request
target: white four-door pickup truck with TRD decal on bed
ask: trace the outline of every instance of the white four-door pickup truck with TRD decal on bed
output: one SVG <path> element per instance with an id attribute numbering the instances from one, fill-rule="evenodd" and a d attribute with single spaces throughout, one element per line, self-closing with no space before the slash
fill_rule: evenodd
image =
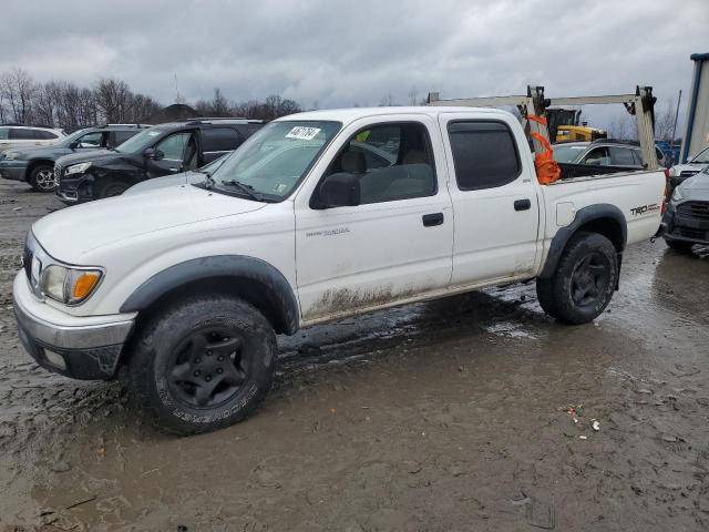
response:
<path id="1" fill-rule="evenodd" d="M 276 334 L 533 278 L 547 314 L 593 320 L 666 185 L 657 171 L 542 186 L 517 120 L 470 108 L 286 116 L 202 183 L 177 180 L 38 221 L 13 291 L 41 366 L 123 369 L 178 433 L 254 410 Z"/>

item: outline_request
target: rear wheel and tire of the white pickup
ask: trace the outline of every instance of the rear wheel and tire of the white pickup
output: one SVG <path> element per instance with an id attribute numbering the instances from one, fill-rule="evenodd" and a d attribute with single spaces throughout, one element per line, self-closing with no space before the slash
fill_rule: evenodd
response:
<path id="1" fill-rule="evenodd" d="M 586 324 L 610 303 L 618 274 L 613 243 L 597 233 L 578 233 L 566 245 L 554 275 L 536 280 L 540 305 L 562 323 Z"/>

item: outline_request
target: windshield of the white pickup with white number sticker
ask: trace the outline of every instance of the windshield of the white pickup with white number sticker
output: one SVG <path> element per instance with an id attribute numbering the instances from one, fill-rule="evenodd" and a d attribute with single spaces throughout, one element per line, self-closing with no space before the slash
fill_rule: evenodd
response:
<path id="1" fill-rule="evenodd" d="M 271 122 L 242 144 L 212 178 L 214 188 L 284 200 L 339 131 L 339 122 Z"/>

